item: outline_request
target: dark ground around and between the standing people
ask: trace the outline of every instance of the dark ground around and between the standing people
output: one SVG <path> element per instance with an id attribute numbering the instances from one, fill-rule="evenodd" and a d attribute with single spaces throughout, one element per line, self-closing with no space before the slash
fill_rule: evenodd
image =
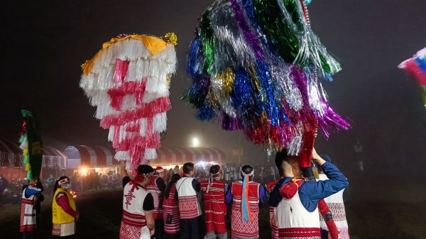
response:
<path id="1" fill-rule="evenodd" d="M 424 187 L 383 191 L 368 188 L 371 185 L 352 188 L 351 199 L 346 204 L 352 239 L 426 239 Z M 51 238 L 51 199 L 51 196 L 46 196 L 42 204 L 40 238 Z M 75 238 L 119 238 L 121 199 L 122 192 L 119 190 L 80 195 L 77 199 L 80 220 L 76 223 Z M 0 238 L 21 238 L 18 233 L 20 205 L 5 204 L 0 211 Z M 267 206 L 261 209 L 259 223 L 262 239 L 271 237 L 268 213 Z"/>

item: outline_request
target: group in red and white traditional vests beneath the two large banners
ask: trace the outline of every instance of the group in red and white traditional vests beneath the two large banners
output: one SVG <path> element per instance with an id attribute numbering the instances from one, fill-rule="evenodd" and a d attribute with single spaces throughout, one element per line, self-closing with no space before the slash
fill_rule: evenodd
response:
<path id="1" fill-rule="evenodd" d="M 231 164 L 212 165 L 208 172 L 201 168 L 195 172 L 195 165 L 187 162 L 182 170 L 139 165 L 131 179 L 123 163 L 120 238 L 200 238 L 200 216 L 204 213 L 204 238 L 228 238 L 229 233 L 231 238 L 254 239 L 259 236 L 259 206 L 268 204 L 272 238 L 330 238 L 327 222 L 334 219 L 338 238 L 349 239 L 342 200 L 348 181 L 329 157 L 313 150 L 312 160 L 325 180 L 302 177 L 298 158 L 286 152 L 275 156 L 279 175 L 275 178 L 275 169 L 262 166 L 237 169 Z M 256 182 L 256 171 L 265 176 L 259 179 L 271 182 Z M 322 199 L 327 199 L 334 216 L 320 216 Z"/>

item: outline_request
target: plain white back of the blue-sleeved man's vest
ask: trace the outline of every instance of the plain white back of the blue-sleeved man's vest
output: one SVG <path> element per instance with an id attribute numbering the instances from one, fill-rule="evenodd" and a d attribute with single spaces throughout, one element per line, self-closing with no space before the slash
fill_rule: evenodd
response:
<path id="1" fill-rule="evenodd" d="M 278 228 L 320 228 L 318 208 L 310 213 L 300 201 L 299 192 L 292 199 L 282 199 L 275 208 Z"/>

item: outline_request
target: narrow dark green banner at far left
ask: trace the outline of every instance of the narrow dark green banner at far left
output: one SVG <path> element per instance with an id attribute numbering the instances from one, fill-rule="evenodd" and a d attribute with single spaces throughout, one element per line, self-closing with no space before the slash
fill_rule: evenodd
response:
<path id="1" fill-rule="evenodd" d="M 40 132 L 37 122 L 30 111 L 21 110 L 23 124 L 21 127 L 19 148 L 23 150 L 23 165 L 27 171 L 27 178 L 40 177 L 43 163 L 43 152 Z"/>

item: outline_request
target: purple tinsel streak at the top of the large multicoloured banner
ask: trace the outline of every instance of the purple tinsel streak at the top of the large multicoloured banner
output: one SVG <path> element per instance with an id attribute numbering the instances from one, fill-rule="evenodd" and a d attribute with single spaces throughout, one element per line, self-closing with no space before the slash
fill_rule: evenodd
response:
<path id="1" fill-rule="evenodd" d="M 250 26 L 246 23 L 244 18 L 244 13 L 241 11 L 241 6 L 236 2 L 236 0 L 231 0 L 232 9 L 234 9 L 235 20 L 238 23 L 241 31 L 244 34 L 244 38 L 246 38 L 247 43 L 253 48 L 256 56 L 263 60 L 263 52 L 261 49 L 261 45 L 258 42 L 258 38 L 256 33 L 250 29 Z"/>

